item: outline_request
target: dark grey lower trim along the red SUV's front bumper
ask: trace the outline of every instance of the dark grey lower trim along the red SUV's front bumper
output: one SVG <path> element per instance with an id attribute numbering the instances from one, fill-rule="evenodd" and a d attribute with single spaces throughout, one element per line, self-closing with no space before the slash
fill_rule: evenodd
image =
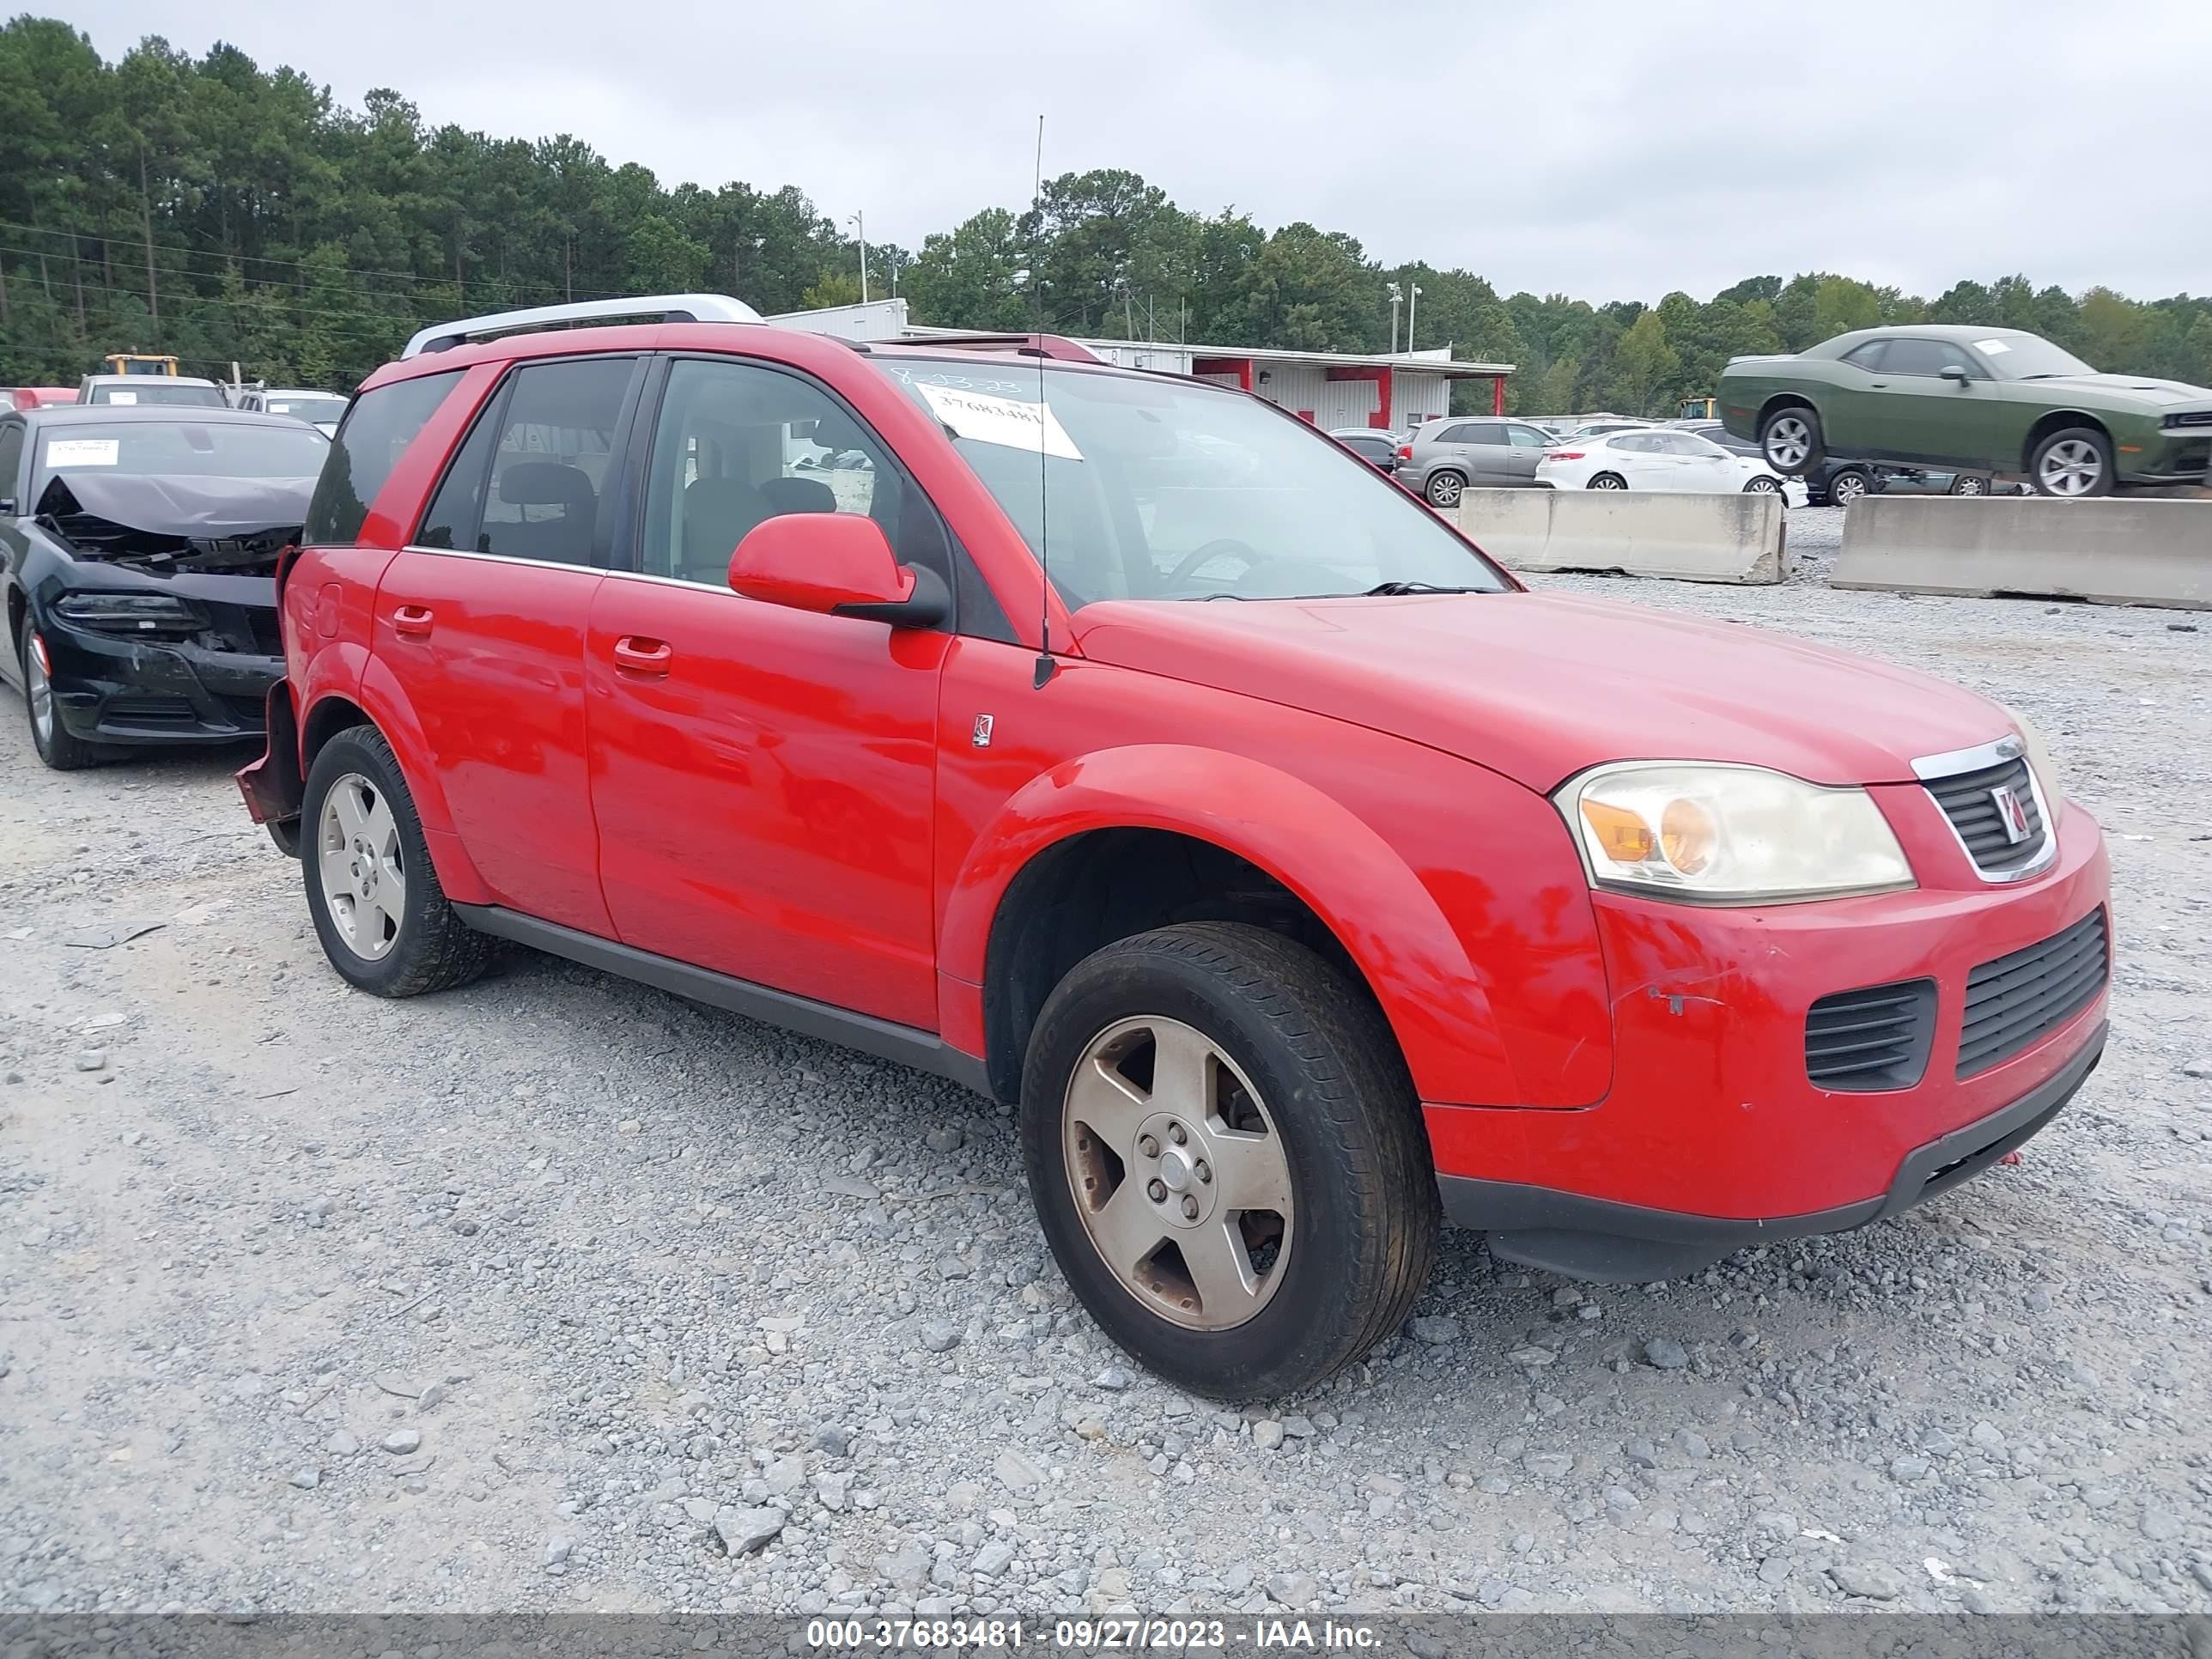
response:
<path id="1" fill-rule="evenodd" d="M 2104 1060 L 2104 1022 L 2055 1075 L 2011 1106 L 1916 1146 L 1898 1164 L 1887 1192 L 1836 1210 L 1734 1221 L 1440 1175 L 1444 1219 L 1462 1228 L 1484 1228 L 1491 1254 L 1524 1267 L 1619 1285 L 1681 1279 L 1710 1267 L 1732 1250 L 1776 1239 L 1807 1239 L 1816 1232 L 1849 1232 L 1869 1221 L 1905 1214 L 2024 1146 L 2075 1097 L 2099 1060 Z"/>

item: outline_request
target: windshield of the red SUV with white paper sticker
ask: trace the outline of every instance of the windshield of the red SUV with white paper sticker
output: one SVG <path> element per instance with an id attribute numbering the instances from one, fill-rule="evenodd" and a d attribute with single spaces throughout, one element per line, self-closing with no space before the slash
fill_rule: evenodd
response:
<path id="1" fill-rule="evenodd" d="M 1383 584 L 1506 591 L 1405 489 L 1243 394 L 1168 376 L 1040 376 L 1035 358 L 878 365 L 945 427 L 1031 553 L 1051 531 L 1053 586 L 1071 611 Z"/>

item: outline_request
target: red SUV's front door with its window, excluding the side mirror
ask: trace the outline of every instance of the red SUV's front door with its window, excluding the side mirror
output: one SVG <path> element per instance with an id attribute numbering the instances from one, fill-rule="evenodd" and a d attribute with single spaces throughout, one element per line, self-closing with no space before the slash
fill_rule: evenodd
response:
<path id="1" fill-rule="evenodd" d="M 728 571 L 781 513 L 867 513 L 907 564 L 947 560 L 942 524 L 843 405 L 737 358 L 668 365 L 644 493 L 639 568 L 599 588 L 584 668 L 622 942 L 936 1031 L 949 635 L 741 599 Z"/>

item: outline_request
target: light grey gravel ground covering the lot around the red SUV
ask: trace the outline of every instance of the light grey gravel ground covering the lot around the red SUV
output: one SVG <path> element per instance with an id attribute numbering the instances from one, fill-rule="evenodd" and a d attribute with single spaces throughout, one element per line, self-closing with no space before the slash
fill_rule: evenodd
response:
<path id="1" fill-rule="evenodd" d="M 55 776 L 9 701 L 0 1610 L 2212 1608 L 2208 637 L 1829 593 L 1836 518 L 1783 588 L 1555 584 L 2028 710 L 2110 834 L 2104 1068 L 1690 1283 L 1453 1237 L 1243 1413 L 1073 1307 L 982 1099 L 522 951 L 356 995 L 239 757 Z"/>

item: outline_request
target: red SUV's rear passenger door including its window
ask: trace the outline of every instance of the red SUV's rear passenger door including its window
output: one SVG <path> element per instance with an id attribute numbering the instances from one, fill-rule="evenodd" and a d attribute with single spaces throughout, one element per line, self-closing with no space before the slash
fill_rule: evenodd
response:
<path id="1" fill-rule="evenodd" d="M 584 630 L 626 522 L 615 456 L 641 374 L 639 356 L 513 369 L 385 568 L 372 635 L 495 902 L 602 938 Z"/>

